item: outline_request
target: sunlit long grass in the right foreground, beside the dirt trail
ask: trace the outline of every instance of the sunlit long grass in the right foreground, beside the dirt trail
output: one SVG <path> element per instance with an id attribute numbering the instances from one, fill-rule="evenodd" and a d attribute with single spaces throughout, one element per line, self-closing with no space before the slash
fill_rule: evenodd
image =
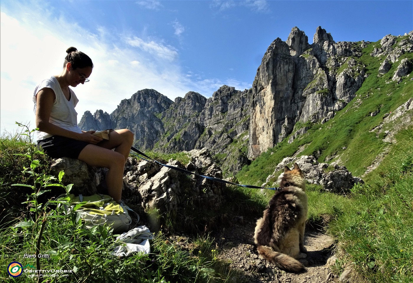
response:
<path id="1" fill-rule="evenodd" d="M 389 155 L 365 185 L 353 188 L 328 227 L 362 282 L 413 282 L 413 128 L 396 138 Z"/>

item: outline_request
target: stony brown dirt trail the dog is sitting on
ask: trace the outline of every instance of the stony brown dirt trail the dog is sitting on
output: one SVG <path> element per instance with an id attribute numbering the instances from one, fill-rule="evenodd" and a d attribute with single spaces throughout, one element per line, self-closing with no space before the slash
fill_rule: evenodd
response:
<path id="1" fill-rule="evenodd" d="M 325 266 L 332 253 L 333 239 L 319 230 L 308 229 L 304 245 L 307 249 L 306 270 L 301 273 L 282 271 L 260 259 L 254 247 L 255 219 L 237 219 L 237 223 L 212 236 L 216 239 L 219 258 L 235 271 L 229 282 L 249 283 L 324 283 L 337 282 Z"/>

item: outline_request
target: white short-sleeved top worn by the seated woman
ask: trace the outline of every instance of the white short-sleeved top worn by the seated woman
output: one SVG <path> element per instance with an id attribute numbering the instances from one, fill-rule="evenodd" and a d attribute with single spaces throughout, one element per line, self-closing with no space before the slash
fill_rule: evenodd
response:
<path id="1" fill-rule="evenodd" d="M 57 81 L 57 78 L 55 76 L 51 76 L 50 78 L 42 81 L 34 89 L 34 113 L 36 114 L 36 95 L 43 88 L 51 88 L 56 95 L 55 102 L 53 102 L 52 105 L 52 111 L 50 112 L 49 122 L 66 130 L 82 133 L 81 128 L 79 128 L 77 124 L 77 112 L 75 110 L 75 106 L 79 102 L 79 100 L 77 99 L 73 90 L 69 88 L 71 97 L 68 101 L 63 94 L 62 88 L 60 88 L 59 81 Z M 51 136 L 52 135 L 45 132 L 37 132 L 38 140 L 49 138 Z"/>

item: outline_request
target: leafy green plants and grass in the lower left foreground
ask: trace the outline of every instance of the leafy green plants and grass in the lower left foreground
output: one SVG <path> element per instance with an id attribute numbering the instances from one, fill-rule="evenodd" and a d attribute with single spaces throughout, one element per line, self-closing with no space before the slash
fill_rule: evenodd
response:
<path id="1" fill-rule="evenodd" d="M 20 262 L 24 273 L 19 276 L 19 282 L 225 282 L 226 276 L 214 267 L 218 263 L 212 260 L 216 253 L 214 257 L 211 255 L 211 238 L 204 240 L 204 252 L 189 255 L 186 250 L 167 244 L 166 236 L 160 233 L 154 237 L 151 254 L 114 257 L 111 248 L 116 243 L 116 235 L 106 226 L 84 228 L 75 213 L 81 204 L 72 207 L 66 196 L 39 203 L 40 197 L 52 186 L 63 187 L 66 195 L 72 186 L 62 185 L 64 172 L 57 177 L 46 173 L 47 169 L 42 164 L 45 159 L 38 158 L 44 155 L 34 149 L 29 138 L 31 133 L 33 131 L 27 127 L 23 132 L 28 142 L 3 138 L 1 143 L 4 152 L 21 159 L 22 172 L 16 172 L 20 176 L 12 178 L 19 183 L 14 188 L 28 189 L 24 202 L 29 208 L 27 216 L 19 216 L 0 227 L 0 265 Z M 4 158 L 7 159 L 8 155 L 3 155 Z M 8 166 L 13 166 L 13 163 Z M 1 169 L 7 170 L 6 167 Z M 5 188 L 9 190 L 5 186 L 2 191 Z M 40 254 L 47 257 L 39 257 Z M 35 273 L 35 270 L 41 271 Z M 47 270 L 71 272 L 57 277 Z M 0 280 L 12 280 L 6 269 L 0 269 Z"/>

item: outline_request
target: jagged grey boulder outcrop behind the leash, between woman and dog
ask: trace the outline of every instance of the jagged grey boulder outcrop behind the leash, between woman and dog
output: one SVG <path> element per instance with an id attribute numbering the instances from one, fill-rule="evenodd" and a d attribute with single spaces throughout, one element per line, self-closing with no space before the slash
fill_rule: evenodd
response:
<path id="1" fill-rule="evenodd" d="M 166 165 L 184 168 L 197 174 L 202 171 L 205 176 L 222 178 L 222 171 L 213 162 L 209 150 L 204 148 L 186 153 L 190 162 L 185 166 L 176 160 L 171 160 Z M 126 170 L 128 172 L 125 181 L 134 188 L 136 195 L 140 195 L 145 211 L 155 209 L 159 214 L 168 213 L 179 218 L 177 213 L 184 209 L 202 207 L 213 212 L 224 203 L 222 183 L 199 176 L 192 178 L 177 170 L 159 167 L 146 161 L 132 161 Z"/>

